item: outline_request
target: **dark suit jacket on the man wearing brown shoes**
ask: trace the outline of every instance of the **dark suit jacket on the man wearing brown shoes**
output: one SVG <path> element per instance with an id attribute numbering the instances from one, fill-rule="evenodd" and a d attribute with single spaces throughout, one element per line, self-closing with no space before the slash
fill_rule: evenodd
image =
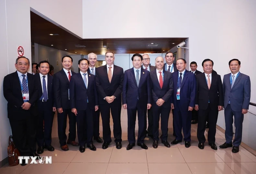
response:
<path id="1" fill-rule="evenodd" d="M 76 73 L 71 71 L 72 75 Z M 71 109 L 68 100 L 69 80 L 64 70 L 60 70 L 53 76 L 53 92 L 56 108 Z M 70 97 L 69 97 L 70 98 Z"/>

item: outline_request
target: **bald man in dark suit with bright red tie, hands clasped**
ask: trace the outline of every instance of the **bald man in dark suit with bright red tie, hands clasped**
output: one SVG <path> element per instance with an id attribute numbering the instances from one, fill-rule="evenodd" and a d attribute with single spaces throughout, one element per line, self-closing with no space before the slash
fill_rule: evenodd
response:
<path id="1" fill-rule="evenodd" d="M 170 97 L 173 92 L 172 74 L 163 70 L 164 59 L 157 57 L 155 60 L 157 69 L 150 72 L 152 85 L 152 111 L 153 111 L 153 148 L 158 147 L 159 140 L 159 119 L 161 114 L 161 142 L 170 147 L 167 141 L 168 137 L 168 120 L 171 110 Z"/>

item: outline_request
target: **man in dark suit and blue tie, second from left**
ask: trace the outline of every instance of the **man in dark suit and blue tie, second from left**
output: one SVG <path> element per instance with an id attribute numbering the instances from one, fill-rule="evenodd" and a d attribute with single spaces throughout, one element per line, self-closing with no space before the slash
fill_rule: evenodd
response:
<path id="1" fill-rule="evenodd" d="M 37 153 L 42 154 L 44 148 L 49 151 L 54 151 L 52 147 L 52 123 L 53 112 L 56 111 L 53 98 L 53 77 L 48 75 L 50 70 L 50 63 L 48 61 L 41 61 L 39 63 L 39 72 L 35 74 L 34 79 L 39 89 L 39 96 L 37 99 L 38 118 L 37 118 Z"/>

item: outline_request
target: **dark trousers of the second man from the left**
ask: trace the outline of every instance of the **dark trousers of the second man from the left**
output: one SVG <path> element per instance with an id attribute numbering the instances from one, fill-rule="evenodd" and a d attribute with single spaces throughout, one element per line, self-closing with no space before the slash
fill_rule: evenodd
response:
<path id="1" fill-rule="evenodd" d="M 42 105 L 46 105 L 46 102 L 42 102 Z M 38 112 L 36 140 L 39 147 L 50 146 L 52 143 L 53 117 L 52 107 L 43 107 L 43 110 Z"/>

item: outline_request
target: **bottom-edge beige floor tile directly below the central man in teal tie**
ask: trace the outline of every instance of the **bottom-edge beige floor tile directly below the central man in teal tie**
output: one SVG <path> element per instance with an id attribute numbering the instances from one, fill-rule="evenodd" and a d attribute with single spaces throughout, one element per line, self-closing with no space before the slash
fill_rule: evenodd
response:
<path id="1" fill-rule="evenodd" d="M 109 163 L 106 174 L 148 174 L 146 163 Z"/>

